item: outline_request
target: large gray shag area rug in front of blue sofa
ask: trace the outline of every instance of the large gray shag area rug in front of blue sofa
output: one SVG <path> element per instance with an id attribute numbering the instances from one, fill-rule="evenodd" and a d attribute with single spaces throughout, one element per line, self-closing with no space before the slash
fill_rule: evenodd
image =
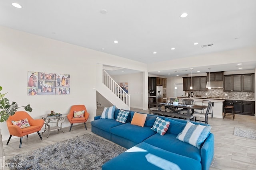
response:
<path id="1" fill-rule="evenodd" d="M 101 170 L 102 165 L 126 149 L 91 134 L 17 154 L 6 163 L 24 170 Z"/>

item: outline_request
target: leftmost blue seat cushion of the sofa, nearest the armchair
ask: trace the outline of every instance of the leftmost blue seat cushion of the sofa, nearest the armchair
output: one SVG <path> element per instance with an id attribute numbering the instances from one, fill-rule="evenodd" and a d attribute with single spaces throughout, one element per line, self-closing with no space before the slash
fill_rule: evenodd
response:
<path id="1" fill-rule="evenodd" d="M 110 133 L 110 129 L 112 127 L 122 125 L 122 123 L 115 121 L 113 119 L 97 119 L 97 120 L 91 121 L 91 125 Z"/>

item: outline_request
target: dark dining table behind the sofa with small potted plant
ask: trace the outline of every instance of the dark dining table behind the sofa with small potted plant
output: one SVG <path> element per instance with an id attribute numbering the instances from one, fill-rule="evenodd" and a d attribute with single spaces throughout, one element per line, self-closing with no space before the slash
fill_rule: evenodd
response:
<path id="1" fill-rule="evenodd" d="M 194 110 L 203 110 L 206 109 L 208 106 L 202 105 L 188 105 L 188 104 L 178 104 L 174 105 L 172 103 L 165 103 L 165 102 L 152 102 L 152 105 L 158 106 L 158 111 L 161 111 L 161 107 L 164 106 L 164 111 L 166 108 L 170 109 L 172 113 L 179 113 L 180 111 L 187 110 L 187 114 L 193 114 Z M 192 110 L 192 113 L 190 112 Z"/>

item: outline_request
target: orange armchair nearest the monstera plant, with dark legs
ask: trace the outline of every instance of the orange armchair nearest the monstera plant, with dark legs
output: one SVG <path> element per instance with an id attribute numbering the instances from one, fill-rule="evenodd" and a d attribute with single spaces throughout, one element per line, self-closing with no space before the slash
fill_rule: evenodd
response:
<path id="1" fill-rule="evenodd" d="M 28 123 L 30 125 L 30 127 L 25 127 L 23 129 L 21 129 L 19 126 L 17 125 L 12 125 L 12 121 L 19 121 L 22 119 L 28 119 Z M 9 118 L 6 121 L 7 123 L 7 127 L 10 133 L 10 137 L 8 139 L 8 142 L 6 145 L 8 145 L 10 139 L 12 136 L 17 136 L 20 137 L 20 148 L 21 148 L 21 144 L 22 144 L 22 137 L 34 132 L 37 132 L 40 139 L 42 139 L 39 131 L 42 129 L 43 125 L 44 125 L 44 120 L 43 119 L 33 119 L 26 111 L 16 111 L 16 113 L 12 116 L 9 116 Z"/>

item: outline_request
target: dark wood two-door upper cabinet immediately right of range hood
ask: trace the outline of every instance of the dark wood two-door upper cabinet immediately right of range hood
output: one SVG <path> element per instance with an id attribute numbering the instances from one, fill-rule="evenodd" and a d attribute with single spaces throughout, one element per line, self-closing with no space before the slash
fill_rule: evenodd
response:
<path id="1" fill-rule="evenodd" d="M 225 75 L 224 76 L 224 92 L 241 92 L 242 91 L 242 75 Z"/>

